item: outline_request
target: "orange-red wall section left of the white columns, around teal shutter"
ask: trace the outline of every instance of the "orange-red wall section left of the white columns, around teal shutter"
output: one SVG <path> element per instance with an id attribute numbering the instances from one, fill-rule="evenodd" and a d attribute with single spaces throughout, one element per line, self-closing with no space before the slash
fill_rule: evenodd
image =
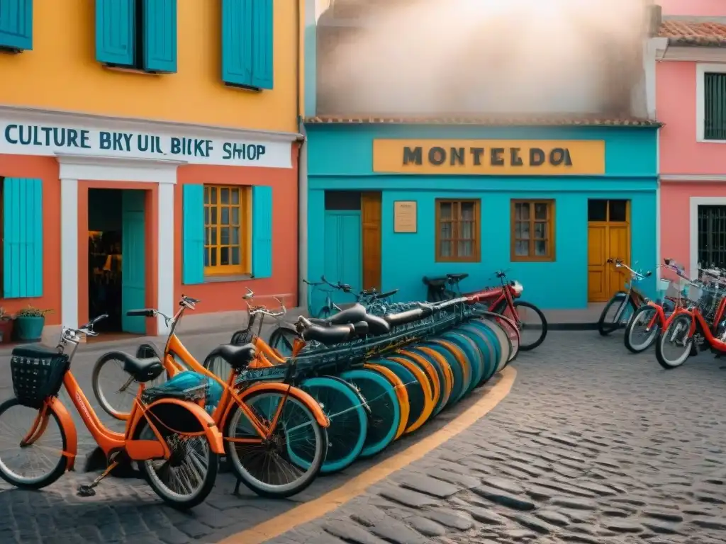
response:
<path id="1" fill-rule="evenodd" d="M 0 177 L 41 178 L 43 180 L 43 296 L 2 299 L 0 306 L 7 313 L 32 305 L 53 310 L 46 316 L 46 325 L 60 323 L 60 181 L 55 157 L 28 157 L 0 154 Z"/>

